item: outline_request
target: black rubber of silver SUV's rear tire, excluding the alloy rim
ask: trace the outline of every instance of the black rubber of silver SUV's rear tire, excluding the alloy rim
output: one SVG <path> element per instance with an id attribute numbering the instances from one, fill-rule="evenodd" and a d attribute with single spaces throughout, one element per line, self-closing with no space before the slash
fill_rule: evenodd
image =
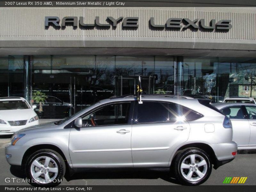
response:
<path id="1" fill-rule="evenodd" d="M 202 156 L 205 159 L 206 164 L 207 164 L 206 174 L 204 175 L 203 179 L 198 180 L 198 181 L 188 181 L 188 180 L 186 180 L 183 177 L 183 175 L 181 173 L 181 170 L 180 170 L 182 161 L 187 156 L 192 155 L 192 154 Z M 200 184 L 204 183 L 210 177 L 211 172 L 212 172 L 212 164 L 211 164 L 211 161 L 210 161 L 210 157 L 207 153 L 205 153 L 201 149 L 193 148 L 193 149 L 188 149 L 188 150 L 185 150 L 185 151 L 181 151 L 177 155 L 177 157 L 175 159 L 175 168 L 174 169 L 175 169 L 175 175 L 176 175 L 177 179 L 180 181 L 181 184 L 183 184 L 183 185 L 200 185 Z"/>

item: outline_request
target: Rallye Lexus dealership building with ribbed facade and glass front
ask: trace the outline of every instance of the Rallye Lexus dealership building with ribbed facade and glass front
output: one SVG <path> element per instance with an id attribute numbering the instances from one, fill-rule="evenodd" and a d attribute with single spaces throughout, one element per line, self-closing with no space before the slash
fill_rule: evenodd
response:
<path id="1" fill-rule="evenodd" d="M 45 119 L 135 94 L 138 76 L 145 94 L 256 97 L 255 7 L 8 7 L 0 18 L 0 97 L 44 95 Z"/>

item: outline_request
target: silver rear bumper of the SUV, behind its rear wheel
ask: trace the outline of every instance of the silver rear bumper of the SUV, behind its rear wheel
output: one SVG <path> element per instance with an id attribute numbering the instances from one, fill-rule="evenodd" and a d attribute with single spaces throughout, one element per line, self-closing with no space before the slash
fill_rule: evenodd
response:
<path id="1" fill-rule="evenodd" d="M 232 155 L 232 152 L 237 151 L 237 144 L 234 141 L 229 143 L 210 144 L 210 146 L 216 155 L 216 161 L 219 165 L 226 164 L 235 158 L 235 156 Z"/>

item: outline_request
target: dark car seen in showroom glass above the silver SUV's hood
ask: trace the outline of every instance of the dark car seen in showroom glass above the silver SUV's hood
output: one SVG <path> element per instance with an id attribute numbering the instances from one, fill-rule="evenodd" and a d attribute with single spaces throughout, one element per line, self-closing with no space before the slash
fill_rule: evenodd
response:
<path id="1" fill-rule="evenodd" d="M 39 103 L 34 103 L 39 108 Z M 58 119 L 69 116 L 69 110 L 73 107 L 72 104 L 64 102 L 57 97 L 47 96 L 47 99 L 42 102 L 44 116 L 43 118 Z"/>

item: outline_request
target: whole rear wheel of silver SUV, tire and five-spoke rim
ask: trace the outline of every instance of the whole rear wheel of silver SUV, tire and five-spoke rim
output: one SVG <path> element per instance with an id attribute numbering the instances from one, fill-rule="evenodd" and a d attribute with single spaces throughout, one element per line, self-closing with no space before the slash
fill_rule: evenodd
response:
<path id="1" fill-rule="evenodd" d="M 210 157 L 198 148 L 180 151 L 175 157 L 174 172 L 180 184 L 200 185 L 211 175 L 212 164 Z"/>

